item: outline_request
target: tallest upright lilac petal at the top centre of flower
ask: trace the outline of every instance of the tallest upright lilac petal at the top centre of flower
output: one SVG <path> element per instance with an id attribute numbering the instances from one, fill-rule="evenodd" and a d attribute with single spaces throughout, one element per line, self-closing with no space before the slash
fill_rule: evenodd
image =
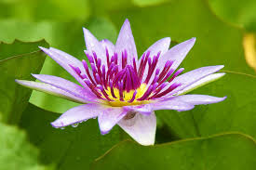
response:
<path id="1" fill-rule="evenodd" d="M 124 52 L 125 49 L 128 52 L 128 64 L 132 65 L 133 58 L 135 58 L 135 60 L 137 61 L 138 56 L 137 56 L 137 49 L 135 46 L 133 35 L 131 33 L 128 19 L 125 20 L 115 44 L 115 50 L 118 55 L 119 67 L 122 67 L 120 64 L 122 63 L 121 56 L 122 56 L 122 52 Z"/>

